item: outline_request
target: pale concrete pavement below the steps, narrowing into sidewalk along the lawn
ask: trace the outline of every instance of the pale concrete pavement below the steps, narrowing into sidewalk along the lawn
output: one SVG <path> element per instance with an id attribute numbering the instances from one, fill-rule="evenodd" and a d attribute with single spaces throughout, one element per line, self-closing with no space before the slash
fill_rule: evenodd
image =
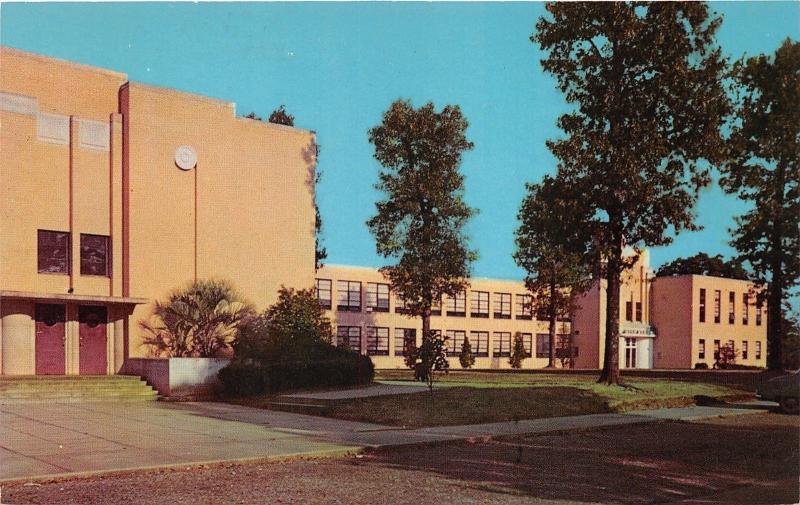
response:
<path id="1" fill-rule="evenodd" d="M 0 482 L 765 411 L 686 407 L 402 429 L 212 402 L 0 405 Z"/>

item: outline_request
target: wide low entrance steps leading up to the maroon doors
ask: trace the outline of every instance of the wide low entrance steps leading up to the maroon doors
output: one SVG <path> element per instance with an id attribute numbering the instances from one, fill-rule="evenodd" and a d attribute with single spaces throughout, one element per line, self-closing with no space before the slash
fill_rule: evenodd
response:
<path id="1" fill-rule="evenodd" d="M 158 392 L 129 375 L 0 376 L 0 404 L 157 399 Z"/>

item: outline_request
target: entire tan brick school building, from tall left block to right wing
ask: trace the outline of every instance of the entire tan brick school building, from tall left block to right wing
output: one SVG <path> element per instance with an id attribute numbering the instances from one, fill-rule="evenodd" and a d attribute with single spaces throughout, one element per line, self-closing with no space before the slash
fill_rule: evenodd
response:
<path id="1" fill-rule="evenodd" d="M 144 356 L 138 322 L 188 281 L 225 278 L 259 309 L 313 287 L 339 342 L 402 368 L 421 321 L 375 269 L 314 268 L 313 132 L 237 117 L 230 102 L 0 48 L 0 375 L 118 373 Z M 764 366 L 766 321 L 745 281 L 655 278 L 643 254 L 620 297 L 620 366 Z M 605 289 L 559 321 L 557 362 L 599 368 Z M 520 280 L 471 279 L 435 308 L 451 366 L 547 364 L 547 322 Z M 572 338 L 570 339 L 570 335 Z"/>

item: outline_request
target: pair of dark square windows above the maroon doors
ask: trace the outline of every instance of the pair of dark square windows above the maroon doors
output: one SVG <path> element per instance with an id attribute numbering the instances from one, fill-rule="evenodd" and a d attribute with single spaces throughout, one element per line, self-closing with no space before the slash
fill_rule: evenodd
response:
<path id="1" fill-rule="evenodd" d="M 81 275 L 111 276 L 111 238 L 80 234 Z M 72 273 L 72 234 L 66 231 L 38 230 L 39 273 Z"/>

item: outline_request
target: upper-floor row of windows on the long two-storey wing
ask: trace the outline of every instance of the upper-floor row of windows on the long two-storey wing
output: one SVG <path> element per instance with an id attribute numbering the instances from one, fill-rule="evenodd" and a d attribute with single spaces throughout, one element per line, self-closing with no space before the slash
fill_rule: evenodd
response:
<path id="1" fill-rule="evenodd" d="M 368 282 L 366 290 L 366 310 L 368 312 L 389 312 L 389 285 L 379 282 Z M 333 281 L 330 279 L 317 279 L 317 299 L 325 309 L 333 308 Z M 495 319 L 511 319 L 511 293 L 494 293 L 493 317 Z M 361 312 L 361 282 L 336 281 L 336 310 L 342 312 Z M 488 291 L 471 291 L 469 315 L 476 318 L 489 317 L 490 293 Z M 442 315 L 441 300 L 434 302 L 431 315 Z M 394 311 L 398 314 L 407 313 L 406 303 L 400 296 L 395 296 Z M 452 317 L 467 316 L 467 293 L 461 292 L 456 296 L 446 298 L 445 312 Z M 528 294 L 516 295 L 516 319 L 532 320 L 534 315 L 533 296 Z M 538 319 L 547 319 L 542 311 L 536 314 Z"/>

